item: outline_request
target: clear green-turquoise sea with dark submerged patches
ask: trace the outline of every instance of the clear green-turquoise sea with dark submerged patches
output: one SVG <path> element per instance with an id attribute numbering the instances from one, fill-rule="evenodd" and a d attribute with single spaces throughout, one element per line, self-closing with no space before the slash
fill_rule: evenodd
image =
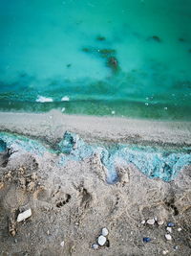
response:
<path id="1" fill-rule="evenodd" d="M 191 120 L 190 24 L 190 0 L 0 0 L 0 109 Z"/>

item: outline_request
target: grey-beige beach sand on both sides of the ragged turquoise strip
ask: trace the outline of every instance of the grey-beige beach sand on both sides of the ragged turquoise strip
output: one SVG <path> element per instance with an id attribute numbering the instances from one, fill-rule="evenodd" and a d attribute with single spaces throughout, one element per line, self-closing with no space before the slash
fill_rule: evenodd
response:
<path id="1" fill-rule="evenodd" d="M 57 111 L 0 113 L 0 121 L 0 130 L 52 144 L 69 130 L 89 143 L 191 145 L 190 123 L 67 116 Z M 57 157 L 18 151 L 0 167 L 1 255 L 191 255 L 190 166 L 174 181 L 164 182 L 149 179 L 133 165 L 119 165 L 119 181 L 109 185 L 97 155 L 71 160 L 64 167 L 56 165 Z M 32 217 L 17 222 L 19 212 L 29 208 Z M 141 224 L 153 218 L 164 223 Z M 171 241 L 164 237 L 168 221 L 175 223 Z M 107 243 L 94 249 L 102 227 L 109 230 Z M 143 243 L 144 237 L 151 242 Z"/>

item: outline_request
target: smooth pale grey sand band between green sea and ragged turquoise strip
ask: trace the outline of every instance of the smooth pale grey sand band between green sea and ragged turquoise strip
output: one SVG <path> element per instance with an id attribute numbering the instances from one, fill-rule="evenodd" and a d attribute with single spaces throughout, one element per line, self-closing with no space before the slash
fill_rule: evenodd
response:
<path id="1" fill-rule="evenodd" d="M 191 122 L 67 115 L 58 110 L 48 113 L 0 112 L 0 130 L 41 138 L 49 143 L 57 142 L 69 130 L 88 143 L 191 146 Z"/>

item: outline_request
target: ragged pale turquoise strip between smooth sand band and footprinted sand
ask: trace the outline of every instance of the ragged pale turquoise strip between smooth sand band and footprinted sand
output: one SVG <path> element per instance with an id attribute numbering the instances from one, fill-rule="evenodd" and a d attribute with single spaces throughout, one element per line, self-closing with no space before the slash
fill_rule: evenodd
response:
<path id="1" fill-rule="evenodd" d="M 32 152 L 43 157 L 46 151 L 57 154 L 55 165 L 65 166 L 68 161 L 82 161 L 93 157 L 100 157 L 100 162 L 106 170 L 106 180 L 113 184 L 118 181 L 117 168 L 134 164 L 138 170 L 150 178 L 160 178 L 171 181 L 176 178 L 180 170 L 191 164 L 190 148 L 159 149 L 154 147 L 140 147 L 138 145 L 89 145 L 78 135 L 65 132 L 63 139 L 53 147 L 24 136 L 0 132 L 0 149 L 12 151 Z"/>

